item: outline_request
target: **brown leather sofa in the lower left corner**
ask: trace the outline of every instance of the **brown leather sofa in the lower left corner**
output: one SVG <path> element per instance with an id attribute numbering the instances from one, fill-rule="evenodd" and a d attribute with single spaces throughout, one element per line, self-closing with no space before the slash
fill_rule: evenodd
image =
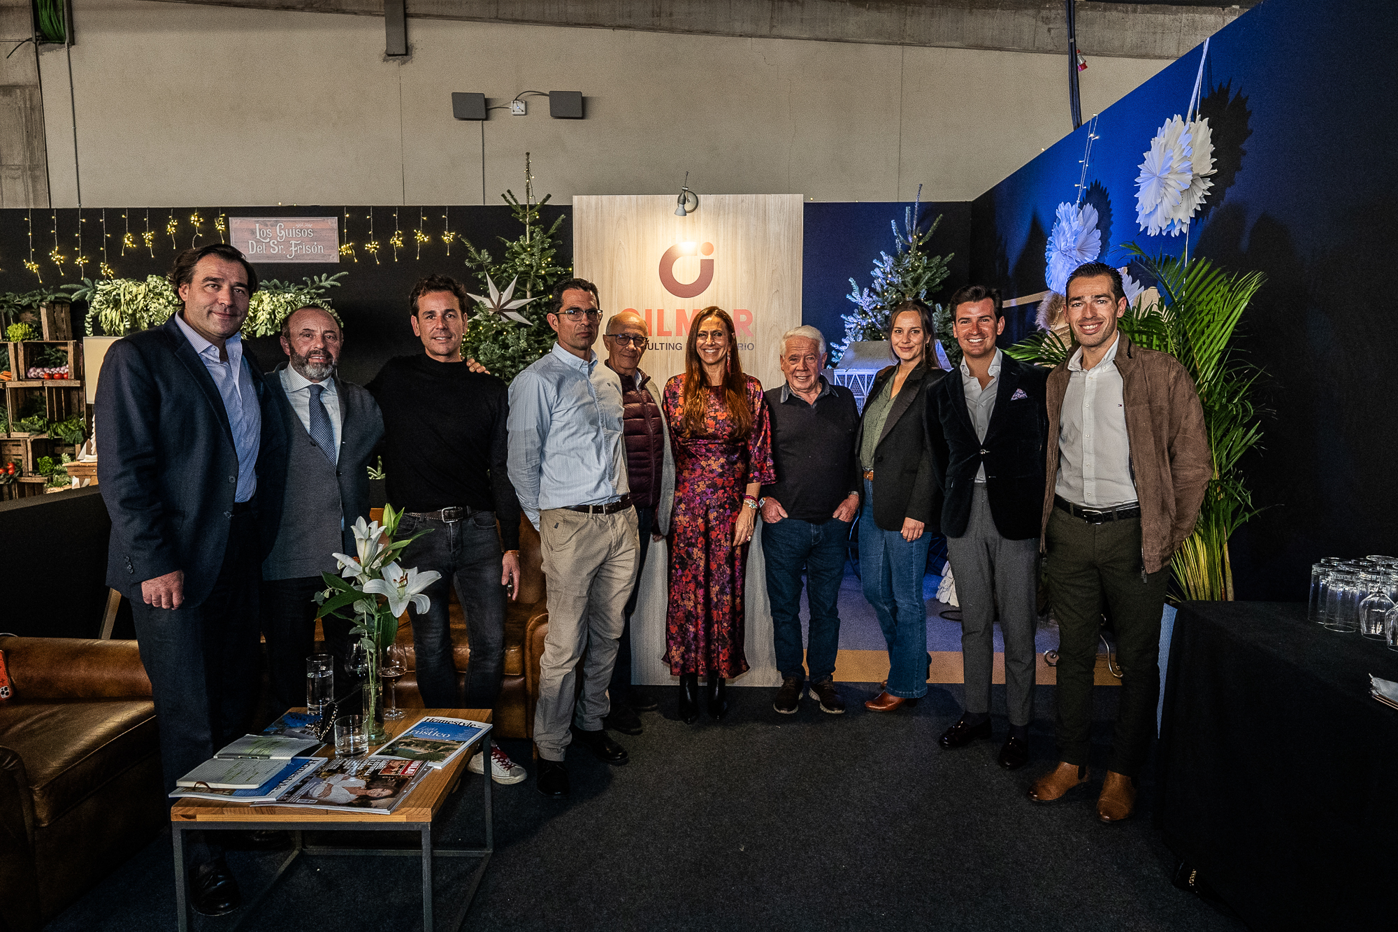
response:
<path id="1" fill-rule="evenodd" d="M 0 932 L 38 932 L 169 819 L 155 707 L 136 641 L 0 651 Z"/>

